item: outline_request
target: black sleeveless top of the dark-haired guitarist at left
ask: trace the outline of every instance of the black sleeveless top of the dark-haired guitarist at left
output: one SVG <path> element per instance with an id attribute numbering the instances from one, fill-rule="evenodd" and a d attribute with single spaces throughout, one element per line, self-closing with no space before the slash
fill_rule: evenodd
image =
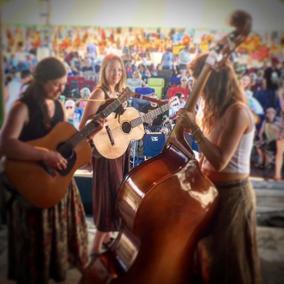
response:
<path id="1" fill-rule="evenodd" d="M 28 106 L 28 110 L 29 110 L 29 123 L 23 127 L 22 132 L 19 137 L 20 141 L 25 142 L 25 141 L 30 141 L 30 140 L 41 138 L 47 135 L 58 122 L 63 121 L 64 119 L 64 112 L 58 100 L 54 101 L 55 111 L 54 111 L 53 117 L 51 118 L 50 125 L 44 125 L 43 114 L 39 112 L 37 113 L 32 112 L 30 109 L 30 104 L 28 104 L 24 100 L 20 100 L 20 101 L 25 103 Z"/>

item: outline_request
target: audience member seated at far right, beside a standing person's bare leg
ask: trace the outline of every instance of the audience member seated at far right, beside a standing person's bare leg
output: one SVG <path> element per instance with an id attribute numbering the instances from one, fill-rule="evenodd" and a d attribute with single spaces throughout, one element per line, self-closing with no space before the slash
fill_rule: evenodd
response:
<path id="1" fill-rule="evenodd" d="M 263 139 L 265 134 L 266 139 Z M 276 153 L 276 135 L 277 135 L 277 119 L 276 110 L 269 107 L 265 111 L 265 120 L 259 130 L 259 141 L 256 144 L 256 150 L 259 155 L 259 162 L 256 167 L 266 168 L 270 164 L 267 151 Z"/>

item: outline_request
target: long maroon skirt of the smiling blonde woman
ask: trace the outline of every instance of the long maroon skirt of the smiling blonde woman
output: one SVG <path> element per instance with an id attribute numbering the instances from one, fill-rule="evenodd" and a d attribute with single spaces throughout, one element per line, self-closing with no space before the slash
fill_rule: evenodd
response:
<path id="1" fill-rule="evenodd" d="M 101 232 L 120 228 L 115 204 L 118 188 L 129 169 L 129 147 L 117 159 L 93 158 L 93 219 Z"/>

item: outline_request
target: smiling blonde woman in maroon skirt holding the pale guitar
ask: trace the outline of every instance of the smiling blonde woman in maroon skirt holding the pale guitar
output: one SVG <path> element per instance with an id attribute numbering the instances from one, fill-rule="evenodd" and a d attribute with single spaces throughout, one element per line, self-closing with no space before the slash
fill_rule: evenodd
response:
<path id="1" fill-rule="evenodd" d="M 90 117 L 103 110 L 125 86 L 126 74 L 122 59 L 114 54 L 104 57 L 98 87 L 91 93 L 80 122 L 83 128 Z M 120 219 L 115 213 L 117 191 L 129 172 L 129 150 L 117 159 L 93 157 L 93 218 L 97 231 L 92 252 L 99 252 L 102 244 L 111 242 L 111 232 L 118 231 Z"/>

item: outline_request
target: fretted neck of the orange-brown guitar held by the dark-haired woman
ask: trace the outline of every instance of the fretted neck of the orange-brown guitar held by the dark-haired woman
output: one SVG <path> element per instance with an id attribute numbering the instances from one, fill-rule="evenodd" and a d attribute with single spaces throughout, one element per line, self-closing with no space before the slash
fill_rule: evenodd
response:
<path id="1" fill-rule="evenodd" d="M 96 120 L 99 118 L 105 118 L 108 117 L 113 111 L 115 111 L 119 106 L 121 105 L 121 102 L 119 99 L 116 99 L 114 102 L 112 102 L 108 107 L 106 107 L 104 110 L 102 110 L 99 114 L 96 115 Z M 91 134 L 96 128 L 98 127 L 98 124 L 94 122 L 94 120 L 91 120 L 82 130 L 78 131 L 75 135 L 73 135 L 67 143 L 72 146 L 72 148 L 75 148 L 81 141 L 86 139 L 89 134 Z"/>

